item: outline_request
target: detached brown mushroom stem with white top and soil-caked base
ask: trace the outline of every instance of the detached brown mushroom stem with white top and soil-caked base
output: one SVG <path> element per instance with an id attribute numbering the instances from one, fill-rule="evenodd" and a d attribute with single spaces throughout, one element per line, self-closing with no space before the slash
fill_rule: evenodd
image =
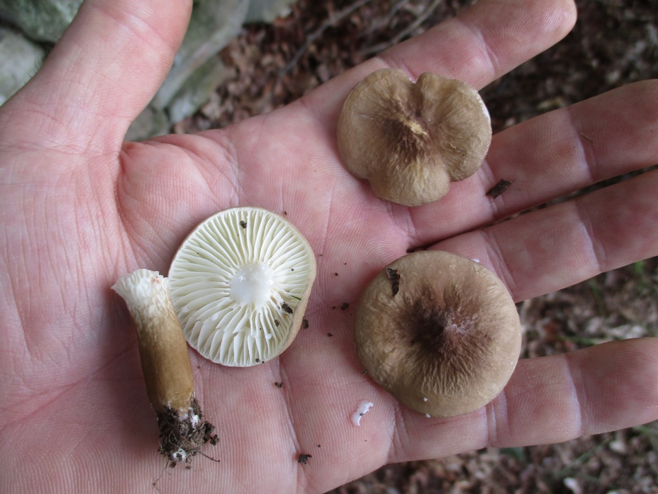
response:
<path id="1" fill-rule="evenodd" d="M 137 327 L 147 395 L 160 428 L 160 453 L 171 467 L 189 462 L 205 443 L 217 444 L 217 436 L 194 396 L 190 357 L 167 278 L 140 269 L 121 277 L 112 290 L 123 298 Z"/>

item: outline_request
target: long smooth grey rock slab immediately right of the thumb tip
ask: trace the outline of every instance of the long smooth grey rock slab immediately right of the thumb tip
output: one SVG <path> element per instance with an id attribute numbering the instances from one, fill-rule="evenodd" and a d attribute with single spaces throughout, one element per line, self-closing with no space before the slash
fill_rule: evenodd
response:
<path id="1" fill-rule="evenodd" d="M 195 3 L 183 44 L 167 78 L 151 101 L 155 108 L 167 107 L 184 82 L 239 34 L 248 6 L 244 0 L 200 0 Z"/>

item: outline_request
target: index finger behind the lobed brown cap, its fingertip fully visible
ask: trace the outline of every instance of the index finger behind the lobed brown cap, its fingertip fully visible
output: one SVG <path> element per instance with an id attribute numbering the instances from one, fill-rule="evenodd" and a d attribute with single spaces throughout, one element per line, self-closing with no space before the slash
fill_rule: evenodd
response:
<path id="1" fill-rule="evenodd" d="M 554 45 L 572 29 L 572 0 L 480 1 L 454 19 L 397 45 L 323 84 L 304 98 L 334 131 L 338 110 L 354 85 L 382 67 L 464 80 L 477 88 Z"/>

